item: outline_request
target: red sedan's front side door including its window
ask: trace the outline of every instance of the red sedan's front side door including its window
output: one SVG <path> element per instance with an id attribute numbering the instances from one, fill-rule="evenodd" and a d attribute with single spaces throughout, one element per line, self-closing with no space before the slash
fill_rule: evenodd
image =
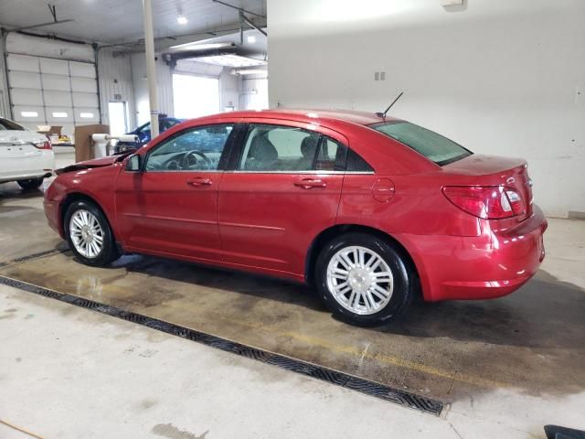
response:
<path id="1" fill-rule="evenodd" d="M 150 149 L 141 172 L 122 170 L 116 217 L 127 249 L 221 260 L 218 185 L 233 128 L 188 128 Z"/>

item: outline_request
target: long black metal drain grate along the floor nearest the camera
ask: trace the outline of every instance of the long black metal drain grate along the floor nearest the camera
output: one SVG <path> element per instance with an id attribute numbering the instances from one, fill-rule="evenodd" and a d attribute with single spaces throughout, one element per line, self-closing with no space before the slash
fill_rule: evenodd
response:
<path id="1" fill-rule="evenodd" d="M 31 258 L 32 259 L 32 258 Z M 41 286 L 27 284 L 0 275 L 0 284 L 12 286 L 28 293 L 42 295 L 51 299 L 57 299 L 69 305 L 76 305 L 82 308 L 87 308 L 107 316 L 121 318 L 129 322 L 150 327 L 157 331 L 162 331 L 176 337 L 186 338 L 187 340 L 202 343 L 211 348 L 218 348 L 226 352 L 246 357 L 248 359 L 255 359 L 265 364 L 271 364 L 281 369 L 291 370 L 300 373 L 304 376 L 312 377 L 317 380 L 322 380 L 335 384 L 352 391 L 359 391 L 370 396 L 375 396 L 388 402 L 394 402 L 403 407 L 410 407 L 411 409 L 420 412 L 427 412 L 439 416 L 442 411 L 443 404 L 438 400 L 426 398 L 409 391 L 402 391 L 394 389 L 384 384 L 379 384 L 375 381 L 364 380 L 354 377 L 352 375 L 340 372 L 334 369 L 324 368 L 300 359 L 292 359 L 280 354 L 275 354 L 260 348 L 252 348 L 250 346 L 242 345 L 241 343 L 206 334 L 204 332 L 190 329 L 188 327 L 181 327 L 172 323 L 158 320 L 157 318 L 143 316 L 141 314 L 126 311 L 111 305 L 104 305 L 99 302 L 94 302 L 89 299 L 84 299 L 76 295 L 67 293 L 58 293 L 57 291 L 49 290 Z"/>

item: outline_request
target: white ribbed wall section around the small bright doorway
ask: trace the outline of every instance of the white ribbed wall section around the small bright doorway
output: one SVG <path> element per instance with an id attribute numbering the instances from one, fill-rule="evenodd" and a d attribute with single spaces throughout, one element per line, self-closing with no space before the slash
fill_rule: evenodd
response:
<path id="1" fill-rule="evenodd" d="M 100 80 L 102 123 L 110 123 L 108 118 L 109 102 L 126 102 L 128 129 L 132 130 L 136 124 L 136 110 L 130 54 L 116 52 L 110 48 L 100 49 L 98 51 L 98 78 Z"/>

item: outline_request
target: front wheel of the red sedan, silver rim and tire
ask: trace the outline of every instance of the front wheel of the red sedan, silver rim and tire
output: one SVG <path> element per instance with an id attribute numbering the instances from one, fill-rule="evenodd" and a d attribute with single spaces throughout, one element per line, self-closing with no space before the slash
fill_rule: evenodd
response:
<path id="1" fill-rule="evenodd" d="M 101 209 L 89 201 L 74 201 L 65 214 L 69 248 L 81 262 L 103 266 L 118 259 L 112 229 Z"/>

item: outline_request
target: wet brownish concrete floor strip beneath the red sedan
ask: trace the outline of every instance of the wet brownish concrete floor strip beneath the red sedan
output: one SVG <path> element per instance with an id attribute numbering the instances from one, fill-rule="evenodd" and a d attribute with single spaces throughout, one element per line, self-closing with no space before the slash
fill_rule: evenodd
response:
<path id="1" fill-rule="evenodd" d="M 129 255 L 96 269 L 69 253 L 0 273 L 447 401 L 585 389 L 585 291 L 543 271 L 505 298 L 417 304 L 369 329 L 335 321 L 303 285 L 186 262 Z"/>

